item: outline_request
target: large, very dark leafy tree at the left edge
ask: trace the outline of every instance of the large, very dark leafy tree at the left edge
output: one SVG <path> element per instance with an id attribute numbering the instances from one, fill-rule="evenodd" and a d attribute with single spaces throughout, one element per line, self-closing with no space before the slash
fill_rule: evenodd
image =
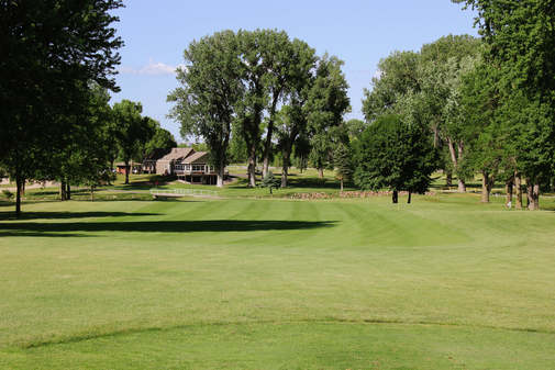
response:
<path id="1" fill-rule="evenodd" d="M 122 46 L 112 23 L 119 0 L 0 2 L 0 162 L 24 181 L 44 172 L 64 132 L 87 109 L 89 81 L 116 90 Z"/>

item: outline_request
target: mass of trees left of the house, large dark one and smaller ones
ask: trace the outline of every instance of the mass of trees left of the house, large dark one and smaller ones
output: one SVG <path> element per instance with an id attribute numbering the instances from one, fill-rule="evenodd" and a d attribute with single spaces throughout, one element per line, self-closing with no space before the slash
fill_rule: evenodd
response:
<path id="1" fill-rule="evenodd" d="M 169 135 L 140 104 L 109 105 L 123 45 L 112 11 L 122 5 L 0 2 L 0 168 L 15 180 L 18 216 L 26 180 L 57 180 L 68 199 L 70 184 L 93 190 L 116 157 L 129 161 L 153 136 Z"/>

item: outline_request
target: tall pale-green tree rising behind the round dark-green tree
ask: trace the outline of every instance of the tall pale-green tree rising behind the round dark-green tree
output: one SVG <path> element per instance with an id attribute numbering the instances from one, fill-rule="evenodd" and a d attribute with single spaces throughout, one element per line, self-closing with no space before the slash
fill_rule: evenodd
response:
<path id="1" fill-rule="evenodd" d="M 404 120 L 426 123 L 433 132 L 434 146 L 445 147 L 455 171 L 459 191 L 466 191 L 464 125 L 449 120 L 458 104 L 460 78 L 470 70 L 479 55 L 480 41 L 468 35 L 448 35 L 423 45 L 421 51 L 396 52 L 380 60 L 373 89 L 365 90 L 363 112 L 368 123 L 382 114 L 402 114 Z M 449 104 L 449 102 L 452 104 Z M 451 114 L 453 116 L 453 114 Z"/>

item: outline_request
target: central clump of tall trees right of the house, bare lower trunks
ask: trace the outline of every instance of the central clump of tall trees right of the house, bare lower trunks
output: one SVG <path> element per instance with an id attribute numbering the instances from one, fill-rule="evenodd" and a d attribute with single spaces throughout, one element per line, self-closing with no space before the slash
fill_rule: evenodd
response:
<path id="1" fill-rule="evenodd" d="M 323 176 L 343 115 L 349 110 L 343 61 L 274 30 L 223 31 L 193 41 L 178 70 L 180 87 L 168 96 L 181 134 L 201 137 L 223 184 L 230 147 L 246 152 L 248 183 L 256 186 L 276 150 L 287 186 L 293 153 L 310 155 Z"/>

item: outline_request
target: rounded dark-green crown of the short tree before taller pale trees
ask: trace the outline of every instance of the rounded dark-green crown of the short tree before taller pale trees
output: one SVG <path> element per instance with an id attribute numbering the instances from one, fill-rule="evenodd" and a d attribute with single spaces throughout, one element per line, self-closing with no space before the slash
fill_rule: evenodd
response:
<path id="1" fill-rule="evenodd" d="M 356 142 L 355 183 L 365 190 L 423 193 L 435 156 L 425 126 L 407 123 L 399 115 L 381 116 Z"/>

